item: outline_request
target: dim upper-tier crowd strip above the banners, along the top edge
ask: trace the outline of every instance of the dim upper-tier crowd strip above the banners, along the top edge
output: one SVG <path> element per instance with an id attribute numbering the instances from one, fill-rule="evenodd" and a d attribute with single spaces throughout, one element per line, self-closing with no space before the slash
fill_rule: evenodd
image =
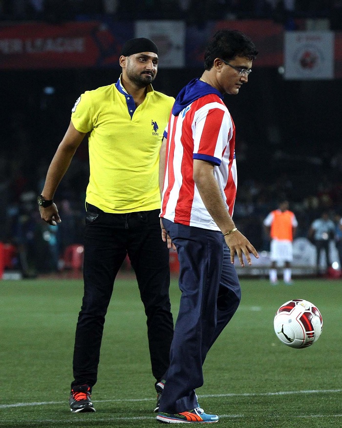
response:
<path id="1" fill-rule="evenodd" d="M 117 20 L 272 18 L 292 26 L 295 18 L 328 18 L 342 27 L 341 0 L 0 0 L 0 20 L 52 23 L 109 15 Z"/>

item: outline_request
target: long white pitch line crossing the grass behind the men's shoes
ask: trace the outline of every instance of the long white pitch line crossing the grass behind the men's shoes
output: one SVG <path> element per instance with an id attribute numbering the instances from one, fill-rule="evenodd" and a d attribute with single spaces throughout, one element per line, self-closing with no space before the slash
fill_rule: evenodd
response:
<path id="1" fill-rule="evenodd" d="M 326 394 L 326 393 L 336 393 L 342 392 L 342 389 L 309 389 L 301 391 L 279 391 L 279 392 L 246 392 L 243 394 L 204 394 L 199 395 L 198 398 L 215 398 L 215 397 L 260 397 L 260 396 L 273 396 L 273 395 L 293 395 L 293 394 Z M 154 401 L 154 398 L 131 398 L 131 399 L 122 399 L 117 398 L 113 400 L 93 400 L 94 403 L 122 403 L 122 402 L 142 402 L 142 401 Z M 33 402 L 33 403 L 15 403 L 15 404 L 0 404 L 0 408 L 10 408 L 10 407 L 25 407 L 25 406 L 46 406 L 49 404 L 65 404 L 65 401 L 42 401 L 42 402 Z M 336 415 L 341 416 L 341 415 Z M 232 417 L 232 416 L 229 416 Z M 240 416 L 236 416 L 240 417 Z M 301 417 L 301 416 L 299 416 Z M 302 416 L 305 417 L 305 416 Z M 319 415 L 317 417 L 320 417 Z M 323 417 L 323 416 L 322 416 Z M 131 418 L 129 418 L 131 419 Z"/>

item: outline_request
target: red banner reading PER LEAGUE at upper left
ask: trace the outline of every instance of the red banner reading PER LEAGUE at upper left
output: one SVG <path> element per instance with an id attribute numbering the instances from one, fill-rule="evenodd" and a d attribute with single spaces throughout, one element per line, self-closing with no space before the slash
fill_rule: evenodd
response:
<path id="1" fill-rule="evenodd" d="M 0 26 L 0 69 L 119 67 L 133 22 L 43 22 Z"/>

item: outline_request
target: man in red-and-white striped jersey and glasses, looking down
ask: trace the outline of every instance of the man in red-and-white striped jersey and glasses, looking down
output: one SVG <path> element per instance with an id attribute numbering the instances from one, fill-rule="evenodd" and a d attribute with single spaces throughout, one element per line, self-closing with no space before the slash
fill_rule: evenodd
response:
<path id="1" fill-rule="evenodd" d="M 234 267 L 258 257 L 232 219 L 236 195 L 235 126 L 223 95 L 248 82 L 257 54 L 243 33 L 218 31 L 205 52 L 205 71 L 178 94 L 165 147 L 162 237 L 174 245 L 182 291 L 157 420 L 217 422 L 198 406 L 207 352 L 240 302 Z M 164 139 L 165 140 L 165 139 Z"/>

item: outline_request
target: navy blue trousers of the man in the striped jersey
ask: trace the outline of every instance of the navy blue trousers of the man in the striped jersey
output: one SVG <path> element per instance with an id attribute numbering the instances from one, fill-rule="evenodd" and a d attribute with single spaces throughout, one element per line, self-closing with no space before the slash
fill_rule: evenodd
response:
<path id="1" fill-rule="evenodd" d="M 194 389 L 203 385 L 207 352 L 233 317 L 241 289 L 221 232 L 163 219 L 177 248 L 180 307 L 159 411 L 197 407 Z"/>

